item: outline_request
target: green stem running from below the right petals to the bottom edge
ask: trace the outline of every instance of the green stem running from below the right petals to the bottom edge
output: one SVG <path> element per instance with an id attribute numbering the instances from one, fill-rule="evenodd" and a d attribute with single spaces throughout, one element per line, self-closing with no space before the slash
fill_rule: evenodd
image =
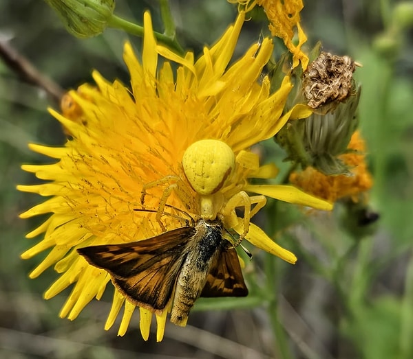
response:
<path id="1" fill-rule="evenodd" d="M 286 331 L 282 326 L 278 316 L 279 303 L 277 300 L 277 266 L 275 264 L 275 257 L 269 253 L 265 254 L 265 273 L 266 273 L 266 298 L 268 299 L 268 316 L 270 317 L 271 326 L 273 327 L 274 341 L 275 341 L 275 358 L 293 359 L 290 349 L 288 347 L 288 340 Z"/>

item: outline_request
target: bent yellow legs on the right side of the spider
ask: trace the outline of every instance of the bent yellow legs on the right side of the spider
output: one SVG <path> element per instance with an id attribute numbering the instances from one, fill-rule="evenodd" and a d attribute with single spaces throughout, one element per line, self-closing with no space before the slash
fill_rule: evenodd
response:
<path id="1" fill-rule="evenodd" d="M 253 205 L 255 206 L 252 207 Z M 251 218 L 255 216 L 255 214 L 257 214 L 257 212 L 260 211 L 260 209 L 262 209 L 265 205 L 266 205 L 265 196 L 260 195 L 260 196 L 250 197 L 244 191 L 238 192 L 237 194 L 232 196 L 228 200 L 228 202 L 226 202 L 221 213 L 224 217 L 229 216 L 229 218 L 233 218 L 234 224 L 235 223 L 237 224 L 238 222 L 235 209 L 237 207 L 244 207 L 244 218 L 243 218 L 244 228 L 243 228 L 242 234 L 240 235 L 240 238 L 237 240 L 234 246 L 237 246 L 238 244 L 240 244 L 240 242 L 242 242 L 242 240 L 248 234 Z"/>

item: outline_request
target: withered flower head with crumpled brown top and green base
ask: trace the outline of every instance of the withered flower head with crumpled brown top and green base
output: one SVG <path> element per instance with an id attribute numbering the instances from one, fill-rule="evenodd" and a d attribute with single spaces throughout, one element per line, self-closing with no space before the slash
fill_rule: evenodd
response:
<path id="1" fill-rule="evenodd" d="M 317 45 L 313 56 L 318 52 Z M 283 74 L 284 62 L 282 58 L 275 67 L 275 84 Z M 286 159 L 303 169 L 314 167 L 327 176 L 351 175 L 340 155 L 348 152 L 348 143 L 359 125 L 361 86 L 352 77 L 356 64 L 348 56 L 321 52 L 306 71 L 299 67 L 290 71 L 295 88 L 286 108 L 306 103 L 313 113 L 305 119 L 288 121 L 275 135 L 275 141 L 287 152 Z"/>

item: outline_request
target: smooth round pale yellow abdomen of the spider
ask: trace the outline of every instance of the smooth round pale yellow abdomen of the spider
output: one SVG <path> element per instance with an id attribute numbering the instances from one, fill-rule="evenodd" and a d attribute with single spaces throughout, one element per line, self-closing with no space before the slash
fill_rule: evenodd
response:
<path id="1" fill-rule="evenodd" d="M 198 194 L 218 192 L 235 167 L 235 154 L 224 142 L 203 139 L 192 143 L 182 157 L 184 174 Z"/>

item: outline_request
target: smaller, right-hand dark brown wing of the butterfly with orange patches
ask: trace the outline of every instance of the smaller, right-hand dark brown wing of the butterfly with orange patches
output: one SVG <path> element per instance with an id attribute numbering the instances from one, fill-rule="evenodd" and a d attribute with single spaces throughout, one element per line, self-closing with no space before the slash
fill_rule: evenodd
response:
<path id="1" fill-rule="evenodd" d="M 247 294 L 237 251 L 223 248 L 209 271 L 201 297 L 246 297 Z"/>

